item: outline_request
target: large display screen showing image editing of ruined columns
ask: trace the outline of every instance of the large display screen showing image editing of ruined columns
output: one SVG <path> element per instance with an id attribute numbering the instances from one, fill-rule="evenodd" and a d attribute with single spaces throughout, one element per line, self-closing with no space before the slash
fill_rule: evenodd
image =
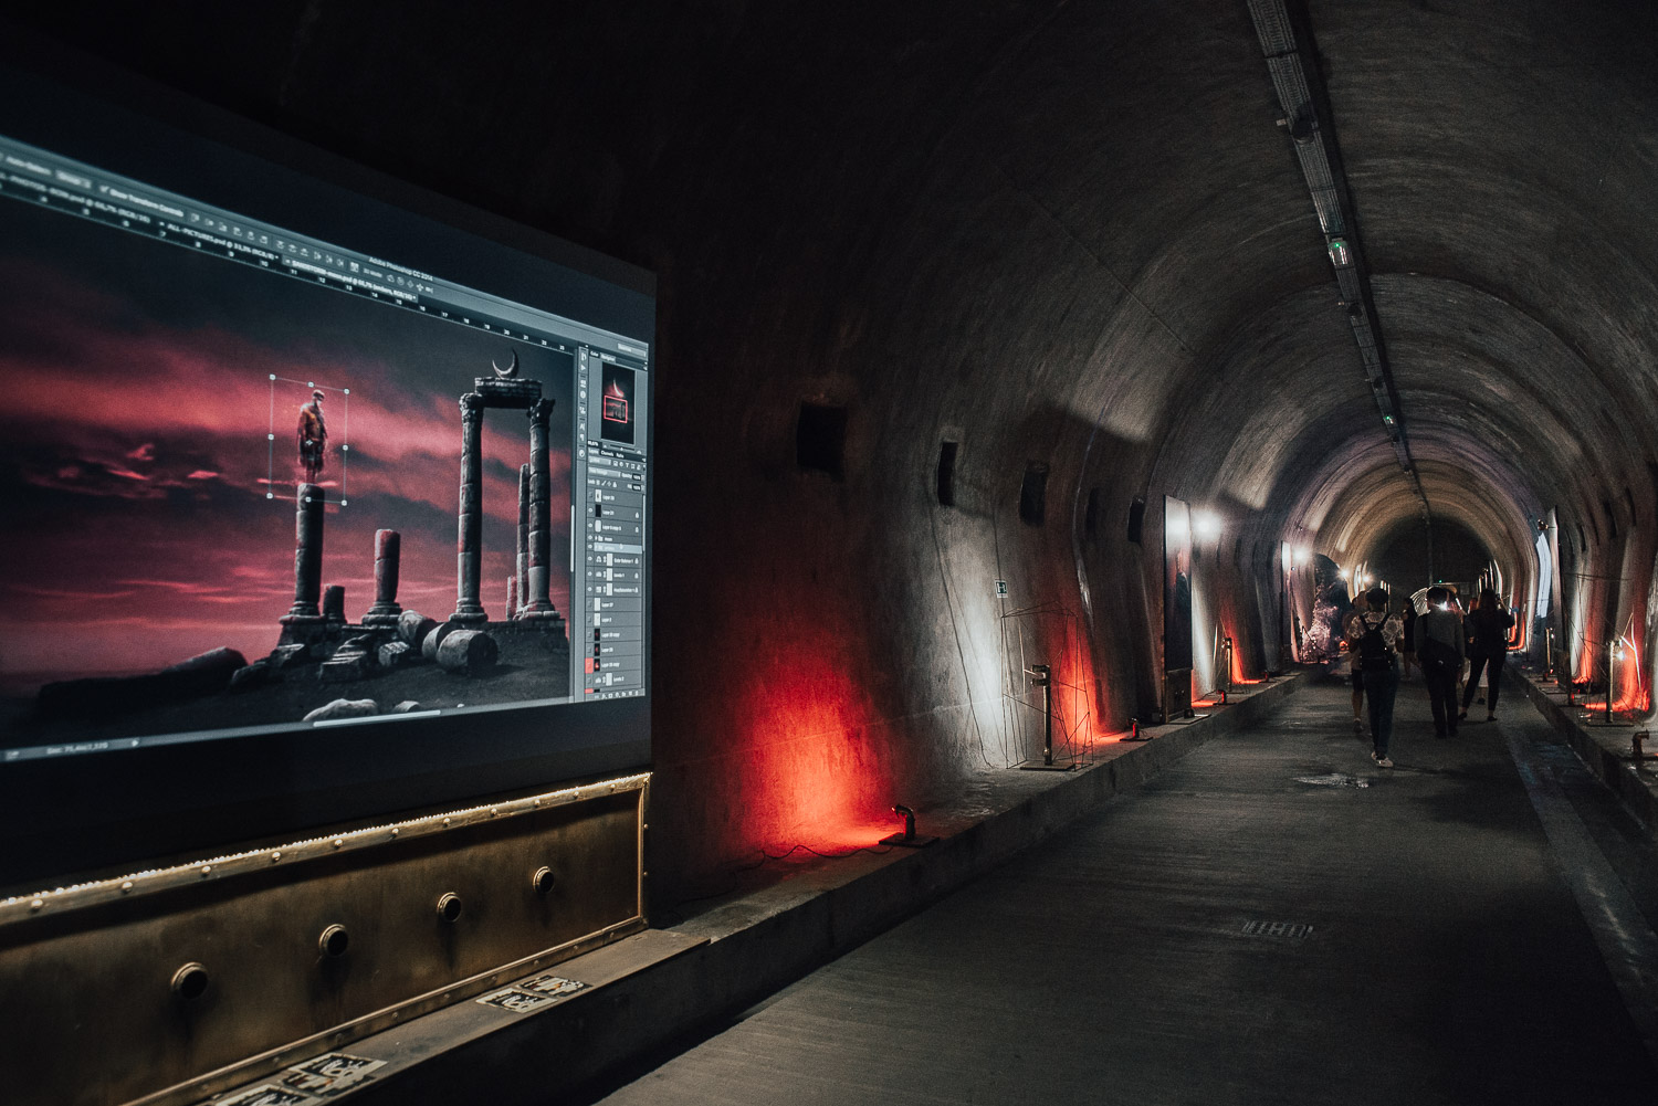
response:
<path id="1" fill-rule="evenodd" d="M 0 70 L 0 882 L 648 761 L 648 275 L 176 116 Z"/>

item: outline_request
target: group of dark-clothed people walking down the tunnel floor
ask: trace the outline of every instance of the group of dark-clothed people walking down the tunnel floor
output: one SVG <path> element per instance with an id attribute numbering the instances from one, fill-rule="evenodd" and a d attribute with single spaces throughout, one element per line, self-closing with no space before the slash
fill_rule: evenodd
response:
<path id="1" fill-rule="evenodd" d="M 1393 741 L 1393 700 L 1399 691 L 1401 663 L 1406 677 L 1413 667 L 1423 672 L 1434 715 L 1434 736 L 1454 738 L 1457 723 L 1467 720 L 1482 673 L 1486 721 L 1497 720 L 1502 663 L 1514 628 L 1514 614 L 1502 607 L 1491 589 L 1484 589 L 1466 614 L 1456 594 L 1444 585 L 1428 589 L 1424 610 L 1418 609 L 1416 599 L 1408 599 L 1398 612 L 1389 609 L 1391 602 L 1386 589 L 1371 589 L 1355 597 L 1353 610 L 1343 620 L 1353 682 L 1353 730 L 1365 731 L 1360 711 L 1368 703 L 1371 759 L 1383 768 L 1393 768 L 1388 748 Z"/>

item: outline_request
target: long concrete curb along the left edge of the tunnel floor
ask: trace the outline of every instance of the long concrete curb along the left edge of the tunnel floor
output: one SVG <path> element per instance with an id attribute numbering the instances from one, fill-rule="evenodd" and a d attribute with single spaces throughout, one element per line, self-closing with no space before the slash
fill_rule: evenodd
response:
<path id="1" fill-rule="evenodd" d="M 350 1099 L 353 1106 L 466 1101 L 487 1089 L 489 1101 L 501 1106 L 560 1101 L 584 1086 L 592 1089 L 652 1051 L 716 1030 L 1205 741 L 1260 721 L 1307 678 L 1295 673 L 1250 688 L 1207 718 L 1144 731 L 1151 741 L 1106 746 L 1096 764 L 1043 774 L 1043 783 L 1031 784 L 1033 794 L 948 832 L 932 847 L 854 857 L 832 871 L 802 872 L 713 907 L 667 930 L 701 943 L 486 1036 L 393 1065 L 395 1073 L 353 1091 Z M 559 973 L 582 978 L 584 960 L 565 962 Z"/>

